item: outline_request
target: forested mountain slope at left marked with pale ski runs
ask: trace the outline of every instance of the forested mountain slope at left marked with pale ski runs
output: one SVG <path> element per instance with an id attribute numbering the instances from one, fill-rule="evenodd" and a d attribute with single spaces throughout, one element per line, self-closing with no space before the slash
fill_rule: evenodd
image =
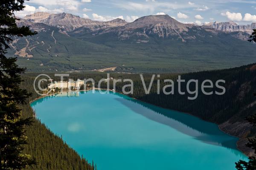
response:
<path id="1" fill-rule="evenodd" d="M 29 26 L 38 34 L 15 38 L 10 44 L 9 57 L 18 57 L 17 63 L 28 71 L 72 71 L 105 68 L 101 57 L 116 50 L 92 42 L 78 40 L 65 34 L 61 28 L 21 19 L 18 26 Z M 92 58 L 93 56 L 93 58 Z"/>

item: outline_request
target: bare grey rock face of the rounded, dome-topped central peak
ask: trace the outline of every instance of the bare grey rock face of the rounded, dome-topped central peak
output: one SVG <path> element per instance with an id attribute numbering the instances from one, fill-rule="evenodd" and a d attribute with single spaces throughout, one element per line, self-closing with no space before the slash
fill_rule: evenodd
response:
<path id="1" fill-rule="evenodd" d="M 125 24 L 121 20 L 118 21 L 119 23 Z M 169 15 L 149 15 L 140 17 L 132 23 L 126 23 L 123 26 L 119 24 L 119 27 L 102 29 L 93 34 L 97 35 L 112 32 L 118 34 L 120 40 L 134 39 L 137 37 L 140 42 L 148 42 L 148 36 L 163 38 L 177 36 L 180 37 L 182 41 L 185 41 L 180 34 L 189 31 L 189 28 L 192 27 L 192 24 L 180 23 Z"/>

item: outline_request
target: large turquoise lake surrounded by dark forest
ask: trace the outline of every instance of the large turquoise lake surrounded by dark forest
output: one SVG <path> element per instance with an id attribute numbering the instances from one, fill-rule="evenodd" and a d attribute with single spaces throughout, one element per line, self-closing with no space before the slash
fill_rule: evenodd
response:
<path id="1" fill-rule="evenodd" d="M 62 93 L 31 106 L 98 170 L 235 170 L 247 160 L 217 125 L 122 94 Z"/>

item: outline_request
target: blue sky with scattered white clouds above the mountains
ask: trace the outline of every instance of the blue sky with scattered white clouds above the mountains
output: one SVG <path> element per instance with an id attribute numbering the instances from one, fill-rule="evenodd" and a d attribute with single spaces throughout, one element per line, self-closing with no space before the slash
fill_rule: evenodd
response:
<path id="1" fill-rule="evenodd" d="M 183 23 L 256 22 L 256 0 L 29 0 L 25 4 L 25 10 L 17 16 L 67 12 L 92 20 L 119 17 L 132 22 L 145 15 L 168 14 Z"/>

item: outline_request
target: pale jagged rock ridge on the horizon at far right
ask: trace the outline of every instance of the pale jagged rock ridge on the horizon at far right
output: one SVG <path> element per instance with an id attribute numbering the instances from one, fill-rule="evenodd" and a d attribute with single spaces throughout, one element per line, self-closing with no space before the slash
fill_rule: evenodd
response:
<path id="1" fill-rule="evenodd" d="M 252 34 L 253 29 L 256 29 L 256 23 L 251 23 L 250 25 L 238 25 L 233 21 L 223 22 L 223 23 L 209 23 L 205 24 L 204 27 L 214 28 L 220 31 L 226 32 L 246 32 L 247 34 Z"/>

